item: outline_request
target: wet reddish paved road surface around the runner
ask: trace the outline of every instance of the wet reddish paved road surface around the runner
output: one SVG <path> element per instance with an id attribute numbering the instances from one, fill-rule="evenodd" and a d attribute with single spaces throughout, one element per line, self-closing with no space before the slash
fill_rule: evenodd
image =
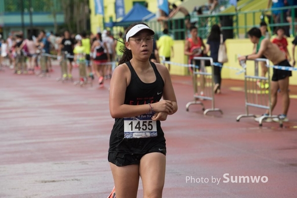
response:
<path id="1" fill-rule="evenodd" d="M 113 187 L 107 162 L 113 125 L 109 82 L 103 89 L 96 83 L 79 87 L 57 82 L 58 76 L 58 66 L 46 78 L 9 69 L 0 73 L 0 198 L 106 198 Z M 236 122 L 245 111 L 243 82 L 224 80 L 216 96 L 224 114 L 204 116 L 198 105 L 185 110 L 193 100 L 191 79 L 172 80 L 179 110 L 162 122 L 164 198 L 297 197 L 297 99 L 291 100 L 290 122 L 283 129 L 277 123 L 259 128 L 250 118 Z M 297 94 L 297 87 L 290 89 Z M 262 181 L 232 183 L 236 176 Z M 141 184 L 139 189 L 142 198 Z"/>

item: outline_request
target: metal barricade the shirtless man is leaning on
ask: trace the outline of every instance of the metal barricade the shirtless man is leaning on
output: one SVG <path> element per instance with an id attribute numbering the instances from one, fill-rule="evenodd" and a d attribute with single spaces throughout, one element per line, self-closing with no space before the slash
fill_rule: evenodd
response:
<path id="1" fill-rule="evenodd" d="M 249 60 L 248 60 L 249 61 Z M 259 62 L 265 62 L 266 66 L 269 67 L 269 60 L 266 58 L 257 58 L 254 61 L 254 75 L 247 75 L 247 70 L 245 71 L 245 104 L 246 104 L 246 114 L 241 114 L 236 118 L 236 121 L 239 122 L 243 117 L 256 117 L 254 114 L 250 114 L 248 107 L 257 107 L 268 109 L 269 115 L 262 115 L 259 119 L 259 126 L 262 126 L 263 120 L 267 118 L 277 118 L 277 115 L 272 115 L 271 109 L 271 86 L 270 86 L 270 71 L 267 70 L 267 77 L 259 76 Z M 260 82 L 257 85 L 257 81 Z M 261 84 L 267 84 L 268 86 L 261 86 Z M 283 121 L 280 120 L 280 127 L 283 127 Z"/>

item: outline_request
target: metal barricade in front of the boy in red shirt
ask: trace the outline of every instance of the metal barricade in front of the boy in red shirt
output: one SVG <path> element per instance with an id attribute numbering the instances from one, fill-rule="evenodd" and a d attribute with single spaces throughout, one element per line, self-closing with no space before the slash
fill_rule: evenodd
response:
<path id="1" fill-rule="evenodd" d="M 186 110 L 189 111 L 189 106 L 192 104 L 199 104 L 204 110 L 203 114 L 206 115 L 208 112 L 218 111 L 223 114 L 222 110 L 215 108 L 214 106 L 214 83 L 213 83 L 213 60 L 211 57 L 194 57 L 195 60 L 200 60 L 199 71 L 196 71 L 196 66 L 193 68 L 193 89 L 194 89 L 194 101 L 186 104 Z M 211 73 L 208 73 L 205 68 L 205 61 L 209 60 L 211 65 Z M 201 94 L 203 92 L 203 95 Z M 211 100 L 211 108 L 205 109 L 204 104 L 198 99 Z"/>

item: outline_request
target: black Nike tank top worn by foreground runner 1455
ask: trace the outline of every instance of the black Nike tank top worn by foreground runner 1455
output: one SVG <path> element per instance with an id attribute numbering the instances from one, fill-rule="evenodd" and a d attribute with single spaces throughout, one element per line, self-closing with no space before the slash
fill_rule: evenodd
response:
<path id="1" fill-rule="evenodd" d="M 150 62 L 156 80 L 144 83 L 138 77 L 130 61 L 126 62 L 131 72 L 131 81 L 126 89 L 125 104 L 140 105 L 158 102 L 162 98 L 164 81 L 156 65 Z M 160 121 L 156 121 L 157 136 L 152 138 L 124 138 L 124 118 L 115 118 L 109 140 L 109 152 L 146 153 L 155 144 L 164 142 Z"/>

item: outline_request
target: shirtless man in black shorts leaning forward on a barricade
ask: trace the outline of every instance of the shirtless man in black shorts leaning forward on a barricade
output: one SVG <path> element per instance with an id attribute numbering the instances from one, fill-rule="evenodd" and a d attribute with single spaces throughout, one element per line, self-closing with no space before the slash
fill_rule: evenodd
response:
<path id="1" fill-rule="evenodd" d="M 258 28 L 251 28 L 247 32 L 248 38 L 253 44 L 258 44 L 261 38 L 261 31 Z M 274 65 L 280 66 L 289 66 L 291 67 L 290 63 L 288 62 L 286 55 L 277 47 L 277 45 L 271 43 L 269 39 L 263 39 L 260 44 L 260 49 L 255 54 L 250 54 L 246 56 L 240 56 L 238 58 L 239 61 L 247 60 L 247 59 L 256 59 L 265 56 L 269 59 Z M 274 69 L 273 68 L 273 75 L 271 81 L 271 111 L 274 109 L 276 102 L 277 102 L 277 91 L 278 89 L 281 90 L 282 95 L 282 107 L 283 111 L 279 117 L 283 120 L 283 122 L 288 122 L 287 113 L 290 104 L 289 98 L 289 77 L 292 76 L 291 71 Z M 265 115 L 269 114 L 269 110 L 266 110 Z M 255 121 L 259 121 L 260 117 L 255 118 Z M 266 120 L 270 121 L 269 118 Z M 278 118 L 273 118 L 273 121 L 278 122 Z"/>

